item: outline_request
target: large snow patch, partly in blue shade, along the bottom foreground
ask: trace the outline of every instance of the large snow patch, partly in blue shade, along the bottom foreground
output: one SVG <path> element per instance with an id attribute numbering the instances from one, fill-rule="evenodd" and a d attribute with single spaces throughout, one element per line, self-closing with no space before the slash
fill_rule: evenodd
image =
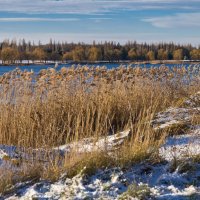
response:
<path id="1" fill-rule="evenodd" d="M 148 185 L 156 199 L 184 199 L 200 195 L 200 166 L 196 173 L 169 172 L 168 163 L 141 163 L 125 170 L 111 168 L 99 170 L 87 177 L 81 173 L 72 179 L 62 177 L 56 183 L 40 182 L 17 192 L 7 199 L 118 199 L 128 189 L 128 185 Z M 147 171 L 148 169 L 148 171 Z M 193 183 L 196 181 L 196 185 Z M 198 196 L 200 197 L 200 196 Z"/>

